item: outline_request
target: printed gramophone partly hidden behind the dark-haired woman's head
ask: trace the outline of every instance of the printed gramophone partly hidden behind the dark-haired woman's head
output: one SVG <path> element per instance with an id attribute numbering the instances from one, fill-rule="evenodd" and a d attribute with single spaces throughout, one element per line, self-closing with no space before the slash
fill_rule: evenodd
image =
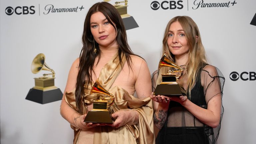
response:
<path id="1" fill-rule="evenodd" d="M 104 0 L 104 1 L 109 2 L 110 0 Z M 121 3 L 124 3 L 124 5 L 122 5 Z M 128 4 L 128 0 L 124 0 L 124 1 L 117 1 L 113 5 L 117 9 L 117 11 L 119 12 L 119 14 L 121 15 L 121 17 L 123 19 L 125 30 L 139 27 L 138 24 L 136 23 L 136 21 L 134 20 L 134 18 L 132 16 L 130 16 L 129 14 L 127 14 L 127 7 L 128 7 L 127 4 Z"/>

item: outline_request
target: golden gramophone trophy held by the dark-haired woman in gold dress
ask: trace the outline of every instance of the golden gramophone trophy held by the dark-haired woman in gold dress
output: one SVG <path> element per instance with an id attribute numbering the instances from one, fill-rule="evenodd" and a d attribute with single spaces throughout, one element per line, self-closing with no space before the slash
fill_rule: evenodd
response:
<path id="1" fill-rule="evenodd" d="M 105 90 L 98 81 L 94 83 L 90 94 L 92 93 L 99 93 L 108 97 L 100 96 L 99 99 L 92 101 L 93 109 L 87 113 L 84 122 L 113 123 L 109 107 L 114 103 L 115 97 Z"/>

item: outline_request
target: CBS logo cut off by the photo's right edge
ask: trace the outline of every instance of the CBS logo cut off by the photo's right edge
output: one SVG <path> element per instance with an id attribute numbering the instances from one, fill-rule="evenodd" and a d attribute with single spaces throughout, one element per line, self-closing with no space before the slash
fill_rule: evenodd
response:
<path id="1" fill-rule="evenodd" d="M 238 72 L 231 72 L 229 75 L 229 78 L 232 81 L 237 81 L 239 78 L 243 81 L 253 81 L 256 80 L 256 73 L 255 72 L 242 72 L 241 74 L 239 74 Z"/>

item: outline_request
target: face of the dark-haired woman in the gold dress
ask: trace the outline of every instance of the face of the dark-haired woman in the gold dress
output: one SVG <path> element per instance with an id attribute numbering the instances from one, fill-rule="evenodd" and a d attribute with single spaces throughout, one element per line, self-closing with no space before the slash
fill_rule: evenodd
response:
<path id="1" fill-rule="evenodd" d="M 115 24 L 114 24 L 115 25 Z M 91 33 L 100 47 L 117 47 L 116 31 L 101 12 L 92 14 L 90 19 Z"/>

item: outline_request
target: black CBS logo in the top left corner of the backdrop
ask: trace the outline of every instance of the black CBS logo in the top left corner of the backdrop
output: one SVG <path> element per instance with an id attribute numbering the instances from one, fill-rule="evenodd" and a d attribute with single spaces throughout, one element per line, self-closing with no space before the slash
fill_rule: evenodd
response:
<path id="1" fill-rule="evenodd" d="M 21 14 L 34 14 L 35 13 L 34 8 L 35 8 L 35 6 L 30 6 L 30 7 L 27 7 L 27 6 L 23 6 L 23 7 L 17 6 L 17 7 L 15 7 L 13 9 L 12 7 L 8 6 L 5 9 L 5 13 L 7 15 L 12 15 L 13 13 L 16 13 L 17 15 L 21 15 Z"/>

